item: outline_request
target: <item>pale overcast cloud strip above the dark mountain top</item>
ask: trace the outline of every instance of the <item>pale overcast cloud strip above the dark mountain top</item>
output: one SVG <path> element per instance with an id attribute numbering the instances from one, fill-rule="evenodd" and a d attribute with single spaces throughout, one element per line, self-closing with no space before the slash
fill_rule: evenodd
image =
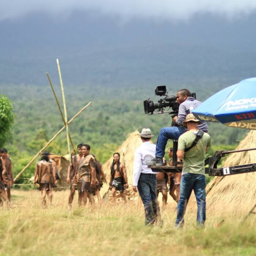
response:
<path id="1" fill-rule="evenodd" d="M 95 10 L 120 18 L 188 19 L 211 13 L 227 19 L 242 18 L 256 10 L 256 0 L 1 0 L 0 20 L 31 12 L 68 15 L 74 10 Z"/>

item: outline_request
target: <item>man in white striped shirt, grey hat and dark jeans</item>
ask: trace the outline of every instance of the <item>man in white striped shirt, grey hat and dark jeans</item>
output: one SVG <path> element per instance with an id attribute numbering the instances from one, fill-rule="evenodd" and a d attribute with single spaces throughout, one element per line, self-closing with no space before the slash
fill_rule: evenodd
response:
<path id="1" fill-rule="evenodd" d="M 139 134 L 142 145 L 135 151 L 133 166 L 133 191 L 138 192 L 144 204 L 145 225 L 150 226 L 155 222 L 160 223 L 160 210 L 157 200 L 157 178 L 156 173 L 147 167 L 146 161 L 155 157 L 155 144 L 150 140 L 154 136 L 150 129 L 142 129 Z"/>

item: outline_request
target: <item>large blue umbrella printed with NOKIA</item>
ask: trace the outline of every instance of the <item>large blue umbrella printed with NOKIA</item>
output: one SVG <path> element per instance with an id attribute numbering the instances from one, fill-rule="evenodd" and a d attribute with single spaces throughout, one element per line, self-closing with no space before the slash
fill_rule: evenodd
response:
<path id="1" fill-rule="evenodd" d="M 191 112 L 202 121 L 256 130 L 256 78 L 219 91 Z"/>

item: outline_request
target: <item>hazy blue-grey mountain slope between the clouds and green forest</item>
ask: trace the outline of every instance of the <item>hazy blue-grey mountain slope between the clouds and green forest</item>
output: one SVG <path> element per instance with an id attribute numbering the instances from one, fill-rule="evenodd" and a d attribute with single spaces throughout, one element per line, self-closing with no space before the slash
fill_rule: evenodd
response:
<path id="1" fill-rule="evenodd" d="M 59 58 L 67 86 L 225 87 L 255 76 L 255 26 L 255 15 L 122 22 L 97 12 L 35 12 L 0 22 L 0 84 L 44 85 L 46 71 L 58 81 Z"/>

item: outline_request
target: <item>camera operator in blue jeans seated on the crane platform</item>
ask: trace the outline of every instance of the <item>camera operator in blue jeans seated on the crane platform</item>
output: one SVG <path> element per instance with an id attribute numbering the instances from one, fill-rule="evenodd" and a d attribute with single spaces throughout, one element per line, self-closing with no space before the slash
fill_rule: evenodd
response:
<path id="1" fill-rule="evenodd" d="M 173 117 L 173 122 L 176 126 L 165 127 L 160 130 L 157 139 L 155 158 L 148 161 L 147 165 L 164 165 L 163 156 L 165 155 L 165 147 L 168 139 L 178 140 L 180 135 L 186 131 L 182 126 L 182 122 L 185 121 L 187 114 L 202 103 L 193 98 L 188 89 L 181 89 L 177 92 L 177 101 L 180 105 L 178 116 Z M 198 125 L 198 128 L 204 132 L 208 132 L 208 126 L 205 121 Z"/>

